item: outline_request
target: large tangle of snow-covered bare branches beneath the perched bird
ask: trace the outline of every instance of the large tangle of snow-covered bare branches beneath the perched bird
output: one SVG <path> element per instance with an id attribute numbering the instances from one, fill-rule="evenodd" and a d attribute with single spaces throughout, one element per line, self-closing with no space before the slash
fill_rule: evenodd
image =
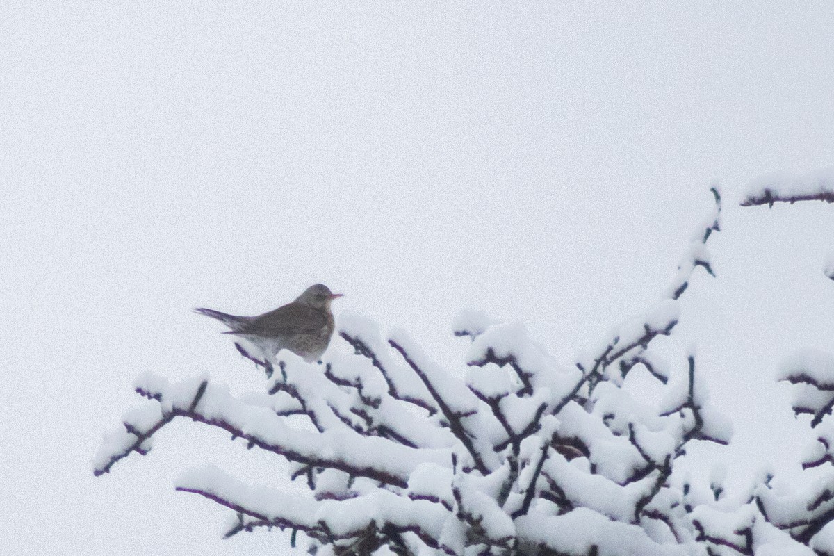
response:
<path id="1" fill-rule="evenodd" d="M 747 553 L 761 542 L 749 527 L 752 499 L 720 508 L 731 514 L 722 520 L 711 505 L 726 504 L 711 496 L 720 487 L 697 498 L 673 475 L 691 443 L 726 443 L 731 427 L 711 408 L 694 356 L 666 362 L 651 350 L 674 333 L 691 273 L 712 273 L 706 243 L 721 212 L 712 193 L 715 206 L 664 298 L 574 366 L 557 363 L 519 323 L 466 313 L 455 334 L 470 339 L 467 363 L 446 368 L 404 332 L 383 334 L 344 313 L 339 336 L 354 353 L 333 349 L 311 364 L 282 351 L 260 362 L 273 371 L 262 392 L 139 377 L 145 399 L 105 437 L 94 473 L 148 453 L 155 433 L 183 418 L 279 456 L 282 480 L 304 489 L 252 485 L 214 467 L 186 471 L 178 490 L 234 512 L 226 537 L 289 528 L 322 556 Z M 663 408 L 622 388 L 640 366 L 666 392 Z"/>

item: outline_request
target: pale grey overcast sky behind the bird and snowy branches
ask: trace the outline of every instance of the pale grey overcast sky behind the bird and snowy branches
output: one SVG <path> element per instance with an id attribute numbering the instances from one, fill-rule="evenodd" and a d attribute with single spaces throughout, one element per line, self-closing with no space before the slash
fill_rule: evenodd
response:
<path id="1" fill-rule="evenodd" d="M 715 179 L 718 278 L 692 284 L 676 342 L 736 443 L 694 456 L 798 476 L 812 436 L 772 377 L 834 349 L 834 208 L 738 201 L 834 164 L 834 4 L 354 4 L 0 6 L 3 545 L 276 553 L 173 492 L 206 460 L 275 477 L 224 435 L 178 423 L 93 478 L 139 372 L 261 387 L 191 308 L 262 313 L 324 282 L 337 318 L 444 363 L 476 308 L 570 364 L 661 297 Z"/>

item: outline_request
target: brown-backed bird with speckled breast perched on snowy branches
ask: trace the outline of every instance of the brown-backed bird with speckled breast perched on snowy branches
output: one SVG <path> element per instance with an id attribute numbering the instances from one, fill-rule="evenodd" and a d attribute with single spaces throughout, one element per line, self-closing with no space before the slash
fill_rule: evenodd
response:
<path id="1" fill-rule="evenodd" d="M 330 303 L 343 293 L 332 293 L 324 284 L 317 283 L 304 290 L 292 303 L 255 317 L 239 317 L 214 309 L 195 308 L 195 313 L 216 318 L 231 328 L 224 334 L 245 338 L 264 354 L 261 362 L 252 358 L 239 343 L 235 347 L 245 357 L 262 364 L 267 375 L 272 374 L 269 359 L 282 349 L 304 358 L 307 363 L 319 361 L 333 336 L 334 318 Z"/>

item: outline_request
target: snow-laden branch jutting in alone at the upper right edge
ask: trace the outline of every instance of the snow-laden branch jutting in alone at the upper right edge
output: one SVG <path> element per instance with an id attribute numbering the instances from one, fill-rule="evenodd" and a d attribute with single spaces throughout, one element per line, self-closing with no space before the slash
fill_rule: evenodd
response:
<path id="1" fill-rule="evenodd" d="M 742 207 L 797 201 L 834 203 L 834 167 L 824 168 L 803 176 L 772 173 L 756 179 L 747 188 Z"/>

